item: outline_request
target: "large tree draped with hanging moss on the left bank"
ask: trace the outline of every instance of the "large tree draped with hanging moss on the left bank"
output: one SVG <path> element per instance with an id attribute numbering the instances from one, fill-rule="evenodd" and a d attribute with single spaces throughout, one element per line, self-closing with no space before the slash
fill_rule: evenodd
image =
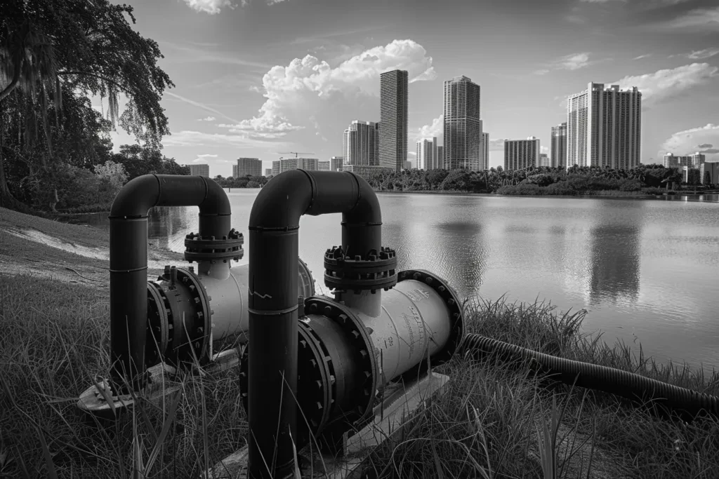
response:
<path id="1" fill-rule="evenodd" d="M 0 108 L 13 109 L 12 113 L 24 120 L 26 127 L 18 131 L 28 151 L 38 140 L 40 118 L 44 141 L 33 158 L 40 159 L 42 169 L 47 169 L 52 157 L 48 120 L 55 121 L 56 129 L 68 126 L 63 118 L 63 100 L 75 92 L 78 96 L 108 98 L 113 126 L 119 123 L 146 147 L 160 149 L 160 139 L 169 134 L 160 96 L 174 85 L 157 67 L 162 57 L 157 43 L 140 36 L 128 23 L 127 18 L 135 22 L 131 6 L 112 5 L 109 0 L 4 3 L 0 17 Z M 127 96 L 128 103 L 119 116 L 120 94 Z M 0 123 L 0 155 L 6 127 L 6 121 Z M 8 195 L 0 156 L 0 196 Z"/>

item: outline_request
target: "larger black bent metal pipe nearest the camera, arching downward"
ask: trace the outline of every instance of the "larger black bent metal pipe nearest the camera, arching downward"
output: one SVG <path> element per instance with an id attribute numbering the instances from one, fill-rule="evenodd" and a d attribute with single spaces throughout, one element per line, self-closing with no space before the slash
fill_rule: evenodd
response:
<path id="1" fill-rule="evenodd" d="M 350 172 L 284 172 L 260 190 L 249 214 L 250 478 L 293 472 L 299 222 L 302 215 L 326 213 L 342 213 L 342 247 L 349 255 L 380 251 L 377 195 Z"/>

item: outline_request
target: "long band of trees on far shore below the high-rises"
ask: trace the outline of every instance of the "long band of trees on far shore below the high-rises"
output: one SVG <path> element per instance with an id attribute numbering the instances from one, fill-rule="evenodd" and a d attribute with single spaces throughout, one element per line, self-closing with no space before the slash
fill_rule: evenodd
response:
<path id="1" fill-rule="evenodd" d="M 697 174 L 690 184 L 698 184 Z M 677 168 L 642 164 L 633 169 L 606 167 L 529 167 L 505 170 L 502 167 L 480 172 L 465 169 L 411 169 L 378 174 L 370 185 L 378 191 L 452 191 L 497 193 L 500 195 L 585 195 L 598 191 L 664 192 L 679 184 Z"/>

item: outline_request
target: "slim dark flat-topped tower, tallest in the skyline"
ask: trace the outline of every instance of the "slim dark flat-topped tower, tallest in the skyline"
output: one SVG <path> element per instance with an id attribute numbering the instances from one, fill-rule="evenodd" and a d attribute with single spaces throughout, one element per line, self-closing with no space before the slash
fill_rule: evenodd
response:
<path id="1" fill-rule="evenodd" d="M 408 73 L 380 75 L 380 166 L 398 172 L 407 160 Z M 347 164 L 347 162 L 345 162 Z"/>

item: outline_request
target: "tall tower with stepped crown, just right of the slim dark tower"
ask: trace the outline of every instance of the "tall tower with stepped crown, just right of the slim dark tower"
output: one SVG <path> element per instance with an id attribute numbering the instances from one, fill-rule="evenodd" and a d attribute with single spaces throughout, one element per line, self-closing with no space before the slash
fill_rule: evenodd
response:
<path id="1" fill-rule="evenodd" d="M 444 167 L 482 169 L 480 85 L 459 76 L 444 82 Z"/>

